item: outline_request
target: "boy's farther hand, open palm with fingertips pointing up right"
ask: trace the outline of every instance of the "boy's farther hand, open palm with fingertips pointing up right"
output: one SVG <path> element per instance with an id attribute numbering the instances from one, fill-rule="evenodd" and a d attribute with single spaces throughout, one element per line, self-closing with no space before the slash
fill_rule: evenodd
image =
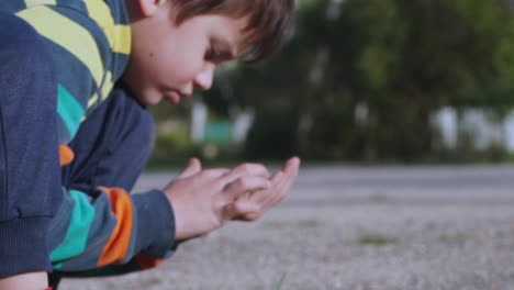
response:
<path id="1" fill-rule="evenodd" d="M 269 189 L 248 191 L 237 199 L 235 212 L 239 213 L 234 220 L 255 221 L 262 214 L 282 201 L 291 190 L 291 186 L 300 169 L 300 158 L 290 158 L 282 170 L 271 177 L 272 186 Z"/>

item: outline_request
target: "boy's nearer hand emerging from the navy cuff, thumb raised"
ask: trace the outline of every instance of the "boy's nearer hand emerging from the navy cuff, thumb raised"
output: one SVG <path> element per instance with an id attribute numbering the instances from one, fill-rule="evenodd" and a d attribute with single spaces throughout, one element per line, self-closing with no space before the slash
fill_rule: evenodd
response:
<path id="1" fill-rule="evenodd" d="M 246 192 L 271 187 L 268 170 L 260 165 L 245 164 L 233 170 L 202 170 L 198 159 L 191 159 L 164 192 L 175 213 L 176 239 L 188 239 L 223 226 L 244 214 L 235 201 Z M 257 209 L 248 205 L 253 212 Z"/>

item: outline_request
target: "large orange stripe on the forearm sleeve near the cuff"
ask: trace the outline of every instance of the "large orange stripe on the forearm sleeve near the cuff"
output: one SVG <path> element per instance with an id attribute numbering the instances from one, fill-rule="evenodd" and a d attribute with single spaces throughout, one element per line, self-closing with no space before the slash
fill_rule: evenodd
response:
<path id="1" fill-rule="evenodd" d="M 132 233 L 132 203 L 128 194 L 121 188 L 101 187 L 111 200 L 112 212 L 116 216 L 116 226 L 103 247 L 97 266 L 121 263 L 128 250 Z"/>

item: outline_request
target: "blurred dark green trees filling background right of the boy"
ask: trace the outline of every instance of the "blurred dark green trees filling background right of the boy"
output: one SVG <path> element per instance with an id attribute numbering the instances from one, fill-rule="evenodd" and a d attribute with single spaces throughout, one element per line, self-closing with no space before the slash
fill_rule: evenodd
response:
<path id="1" fill-rule="evenodd" d="M 250 150 L 420 160 L 442 105 L 512 108 L 513 16 L 502 0 L 303 1 L 280 57 L 228 78 L 257 122 L 277 122 L 273 134 L 254 132 Z"/>

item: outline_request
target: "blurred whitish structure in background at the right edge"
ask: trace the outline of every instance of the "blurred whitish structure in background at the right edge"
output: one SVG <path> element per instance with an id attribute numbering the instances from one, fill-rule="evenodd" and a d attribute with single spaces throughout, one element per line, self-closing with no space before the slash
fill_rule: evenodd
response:
<path id="1" fill-rule="evenodd" d="M 462 112 L 459 121 L 457 110 L 447 107 L 435 113 L 432 122 L 447 148 L 457 146 L 460 131 L 477 149 L 503 145 L 510 153 L 514 153 L 514 112 L 499 123 L 487 110 L 468 109 Z"/>

